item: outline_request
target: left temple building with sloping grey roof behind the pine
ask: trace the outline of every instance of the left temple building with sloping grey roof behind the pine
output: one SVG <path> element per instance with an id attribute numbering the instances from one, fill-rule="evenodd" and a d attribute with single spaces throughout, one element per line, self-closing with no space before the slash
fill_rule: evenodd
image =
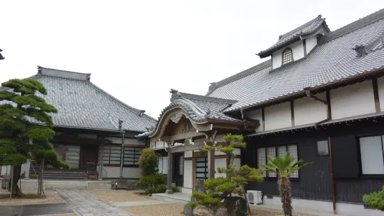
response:
<path id="1" fill-rule="evenodd" d="M 45 86 L 47 95 L 40 96 L 58 110 L 52 114 L 56 135 L 51 142 L 60 159 L 70 164 L 70 169 L 46 167 L 44 180 L 140 177 L 137 162 L 148 143 L 135 136 L 153 127 L 155 119 L 95 86 L 91 74 L 39 66 L 31 78 Z M 22 166 L 24 178 L 36 177 L 39 169 L 34 165 Z M 7 172 L 9 167 L 1 167 L 1 174 Z"/>

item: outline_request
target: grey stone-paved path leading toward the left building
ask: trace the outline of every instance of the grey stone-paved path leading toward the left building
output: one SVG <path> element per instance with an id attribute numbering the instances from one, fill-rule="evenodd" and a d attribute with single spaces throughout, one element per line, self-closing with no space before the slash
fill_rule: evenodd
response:
<path id="1" fill-rule="evenodd" d="M 81 190 L 56 190 L 56 192 L 79 216 L 135 216 Z"/>

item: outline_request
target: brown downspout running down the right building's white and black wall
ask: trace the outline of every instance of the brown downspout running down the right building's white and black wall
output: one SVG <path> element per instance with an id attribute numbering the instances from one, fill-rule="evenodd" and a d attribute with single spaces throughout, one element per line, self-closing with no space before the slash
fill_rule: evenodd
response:
<path id="1" fill-rule="evenodd" d="M 318 130 L 319 124 L 325 123 L 326 121 L 330 121 L 330 119 L 332 118 L 331 113 L 330 113 L 329 91 L 327 91 L 327 93 L 326 93 L 327 94 L 327 100 L 323 100 L 323 99 L 317 98 L 316 96 L 312 95 L 309 88 L 305 89 L 305 94 L 307 95 L 308 98 L 311 98 L 312 100 L 317 100 L 317 101 L 323 102 L 323 104 L 327 105 L 327 118 L 314 124 L 315 130 Z M 331 177 L 331 188 L 332 188 L 332 205 L 333 205 L 333 213 L 336 215 L 337 210 L 336 210 L 336 198 L 335 198 L 336 197 L 335 196 L 335 178 L 333 177 L 332 148 L 331 148 L 330 136 L 328 136 L 328 148 L 329 148 L 329 153 L 330 153 L 330 177 Z"/>

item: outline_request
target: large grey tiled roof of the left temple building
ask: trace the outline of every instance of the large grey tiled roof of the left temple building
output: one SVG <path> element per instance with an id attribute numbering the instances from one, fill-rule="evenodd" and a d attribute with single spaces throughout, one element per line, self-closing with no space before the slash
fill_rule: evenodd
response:
<path id="1" fill-rule="evenodd" d="M 90 74 L 38 67 L 33 79 L 47 88 L 47 95 L 40 95 L 58 109 L 52 114 L 54 125 L 63 128 L 117 131 L 118 119 L 123 130 L 144 132 L 156 121 L 117 100 L 89 81 Z"/>

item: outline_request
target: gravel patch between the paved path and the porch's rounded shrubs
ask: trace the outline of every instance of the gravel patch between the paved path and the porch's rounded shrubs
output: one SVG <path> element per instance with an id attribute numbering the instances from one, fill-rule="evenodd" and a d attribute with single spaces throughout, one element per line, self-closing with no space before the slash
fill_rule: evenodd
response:
<path id="1" fill-rule="evenodd" d="M 90 194 L 105 202 L 124 202 L 124 201 L 145 201 L 151 198 L 148 198 L 144 195 L 139 195 L 138 190 L 84 190 L 86 194 Z"/>

